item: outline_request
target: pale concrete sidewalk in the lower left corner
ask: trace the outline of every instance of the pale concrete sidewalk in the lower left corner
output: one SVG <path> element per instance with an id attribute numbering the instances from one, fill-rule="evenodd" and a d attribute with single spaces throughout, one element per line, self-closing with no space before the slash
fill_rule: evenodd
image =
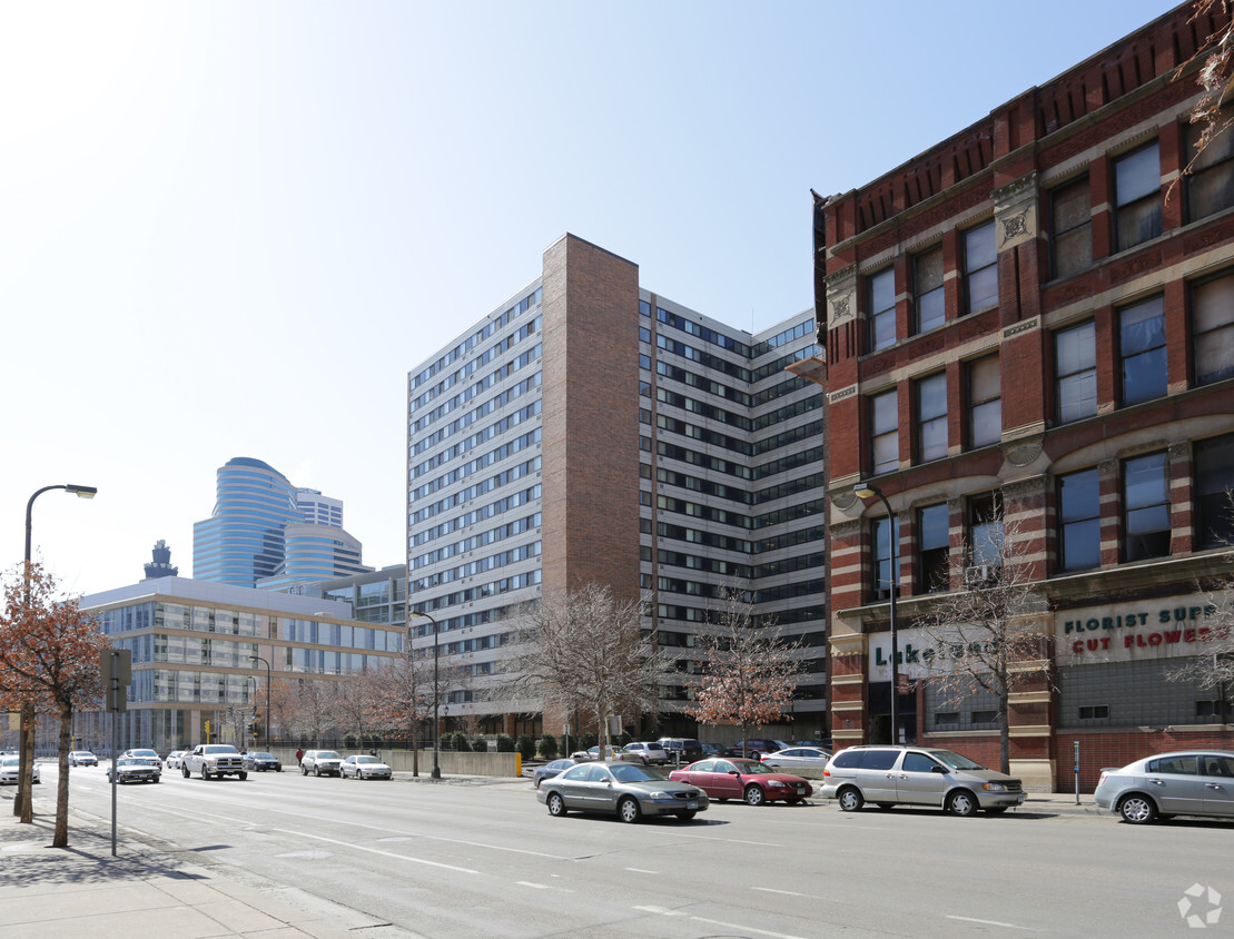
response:
<path id="1" fill-rule="evenodd" d="M 178 939 L 408 937 L 389 923 L 291 887 L 251 887 L 121 837 L 72 813 L 69 846 L 49 848 L 54 806 L 37 798 L 33 824 L 0 798 L 0 939 L 31 935 Z M 60 932 L 63 929 L 63 932 Z"/>

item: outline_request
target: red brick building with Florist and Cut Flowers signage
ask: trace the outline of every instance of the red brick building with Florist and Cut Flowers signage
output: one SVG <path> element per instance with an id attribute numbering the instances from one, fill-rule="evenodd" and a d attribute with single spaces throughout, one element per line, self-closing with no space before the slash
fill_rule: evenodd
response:
<path id="1" fill-rule="evenodd" d="M 891 738 L 895 566 L 901 735 L 997 765 L 997 702 L 944 700 L 905 655 L 990 575 L 970 545 L 996 519 L 1040 598 L 1013 774 L 1070 790 L 1079 742 L 1091 791 L 1101 766 L 1234 748 L 1232 689 L 1167 680 L 1211 649 L 1234 570 L 1234 133 L 1185 174 L 1198 86 L 1175 74 L 1225 21 L 1190 15 L 816 197 L 837 747 Z"/>

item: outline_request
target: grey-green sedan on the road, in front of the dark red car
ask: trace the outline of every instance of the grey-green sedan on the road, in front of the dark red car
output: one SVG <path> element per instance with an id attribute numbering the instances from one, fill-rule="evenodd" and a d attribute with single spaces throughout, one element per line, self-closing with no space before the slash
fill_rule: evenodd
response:
<path id="1" fill-rule="evenodd" d="M 615 812 L 623 822 L 643 816 L 676 816 L 689 822 L 707 809 L 707 793 L 652 766 L 628 763 L 589 763 L 571 766 L 536 790 L 550 816 L 576 812 Z"/>

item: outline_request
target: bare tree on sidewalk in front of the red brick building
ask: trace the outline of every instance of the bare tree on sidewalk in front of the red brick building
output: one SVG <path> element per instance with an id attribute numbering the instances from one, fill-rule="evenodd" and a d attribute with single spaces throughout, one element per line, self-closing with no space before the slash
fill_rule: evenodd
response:
<path id="1" fill-rule="evenodd" d="M 1000 769 L 1008 771 L 1011 734 L 1007 714 L 1012 691 L 1038 680 L 1025 663 L 1049 658 L 1049 637 L 1037 614 L 1044 600 L 1028 559 L 1030 539 L 1001 510 L 981 519 L 976 544 L 950 553 L 950 582 L 960 589 L 923 600 L 913 624 L 926 633 L 926 679 L 943 697 L 959 703 L 977 691 L 993 695 L 998 723 Z"/>

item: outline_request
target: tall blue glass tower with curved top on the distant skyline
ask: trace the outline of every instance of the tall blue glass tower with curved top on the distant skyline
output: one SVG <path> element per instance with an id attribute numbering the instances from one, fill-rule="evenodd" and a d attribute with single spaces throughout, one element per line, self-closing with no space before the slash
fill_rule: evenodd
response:
<path id="1" fill-rule="evenodd" d="M 215 511 L 193 526 L 193 576 L 252 587 L 279 570 L 284 529 L 304 516 L 296 487 L 262 460 L 236 457 L 218 468 Z"/>

